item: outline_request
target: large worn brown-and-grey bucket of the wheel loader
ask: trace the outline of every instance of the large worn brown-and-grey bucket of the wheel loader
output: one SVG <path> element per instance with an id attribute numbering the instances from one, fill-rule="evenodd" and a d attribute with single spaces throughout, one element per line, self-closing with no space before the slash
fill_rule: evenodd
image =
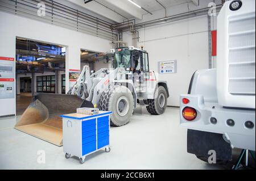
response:
<path id="1" fill-rule="evenodd" d="M 20 120 L 15 129 L 32 136 L 62 146 L 62 119 L 60 115 L 76 112 L 76 108 L 92 107 L 92 103 L 82 100 L 76 95 L 38 94 Z"/>

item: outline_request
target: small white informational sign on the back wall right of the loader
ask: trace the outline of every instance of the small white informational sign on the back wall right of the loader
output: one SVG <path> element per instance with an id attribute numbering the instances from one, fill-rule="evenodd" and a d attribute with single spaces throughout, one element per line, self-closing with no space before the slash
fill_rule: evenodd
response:
<path id="1" fill-rule="evenodd" d="M 177 60 L 158 62 L 158 73 L 159 74 L 177 73 Z"/>

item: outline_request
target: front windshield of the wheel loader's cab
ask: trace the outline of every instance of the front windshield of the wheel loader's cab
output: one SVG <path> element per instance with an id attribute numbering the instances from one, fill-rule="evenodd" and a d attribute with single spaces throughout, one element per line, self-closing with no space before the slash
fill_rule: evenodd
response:
<path id="1" fill-rule="evenodd" d="M 115 50 L 114 68 L 131 67 L 131 51 L 128 48 L 119 48 Z"/>

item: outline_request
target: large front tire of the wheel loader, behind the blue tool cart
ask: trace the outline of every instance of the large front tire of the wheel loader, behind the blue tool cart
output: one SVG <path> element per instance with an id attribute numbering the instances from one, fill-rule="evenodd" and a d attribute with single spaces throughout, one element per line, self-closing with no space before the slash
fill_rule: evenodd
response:
<path id="1" fill-rule="evenodd" d="M 121 85 L 110 86 L 100 98 L 99 108 L 101 111 L 112 111 L 110 124 L 121 127 L 130 121 L 133 113 L 134 102 L 131 91 Z"/>

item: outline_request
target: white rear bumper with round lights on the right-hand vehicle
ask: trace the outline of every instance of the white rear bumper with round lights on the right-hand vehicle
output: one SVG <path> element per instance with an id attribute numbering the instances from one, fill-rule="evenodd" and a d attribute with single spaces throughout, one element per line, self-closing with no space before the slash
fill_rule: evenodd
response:
<path id="1" fill-rule="evenodd" d="M 188 104 L 183 104 L 182 99 L 189 99 Z M 197 117 L 193 121 L 187 121 L 182 116 L 185 107 L 193 107 L 197 111 Z M 217 119 L 216 124 L 210 122 L 210 118 Z M 229 126 L 226 121 L 234 120 L 234 126 Z M 245 122 L 251 121 L 254 127 L 245 127 Z M 232 148 L 255 150 L 255 110 L 242 110 L 223 108 L 218 103 L 204 102 L 203 95 L 180 96 L 180 125 L 181 127 L 197 131 L 224 134 L 226 141 Z"/>

